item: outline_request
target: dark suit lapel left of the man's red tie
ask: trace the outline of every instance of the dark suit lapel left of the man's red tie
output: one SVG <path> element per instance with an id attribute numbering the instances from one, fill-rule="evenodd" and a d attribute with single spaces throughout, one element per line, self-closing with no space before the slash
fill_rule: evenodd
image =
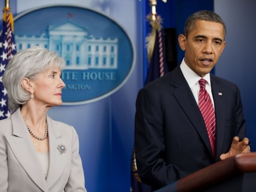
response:
<path id="1" fill-rule="evenodd" d="M 207 149 L 212 154 L 203 116 L 198 108 L 194 95 L 180 70 L 180 67 L 178 66 L 176 69 L 174 69 L 172 74 L 173 78 L 171 79 L 171 85 L 176 87 L 176 89 L 173 91 L 173 95 L 179 102 L 181 108 L 185 111 L 191 123 L 194 125 L 198 134 L 203 139 Z"/>

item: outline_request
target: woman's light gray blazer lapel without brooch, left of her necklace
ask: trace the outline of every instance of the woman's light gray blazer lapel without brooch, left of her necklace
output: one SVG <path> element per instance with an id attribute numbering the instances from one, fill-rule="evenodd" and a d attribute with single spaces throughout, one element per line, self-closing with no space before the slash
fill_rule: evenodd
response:
<path id="1" fill-rule="evenodd" d="M 21 117 L 20 109 L 15 111 L 11 119 L 14 136 L 6 137 L 6 139 L 13 154 L 36 185 L 43 191 L 49 191 L 33 142 Z"/>

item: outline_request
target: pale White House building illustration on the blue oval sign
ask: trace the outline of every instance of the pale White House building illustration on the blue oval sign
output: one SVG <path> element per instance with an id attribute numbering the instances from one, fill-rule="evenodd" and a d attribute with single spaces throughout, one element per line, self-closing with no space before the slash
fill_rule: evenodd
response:
<path id="1" fill-rule="evenodd" d="M 15 35 L 17 51 L 43 46 L 66 60 L 65 69 L 116 69 L 118 39 L 89 36 L 86 28 L 73 22 L 49 26 L 47 34 Z"/>

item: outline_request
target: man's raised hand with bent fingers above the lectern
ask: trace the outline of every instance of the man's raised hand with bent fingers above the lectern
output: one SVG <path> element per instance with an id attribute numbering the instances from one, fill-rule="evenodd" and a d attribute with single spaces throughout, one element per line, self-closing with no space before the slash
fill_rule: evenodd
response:
<path id="1" fill-rule="evenodd" d="M 220 159 L 223 160 L 240 153 L 251 153 L 250 151 L 251 148 L 250 146 L 247 146 L 248 144 L 249 144 L 249 139 L 244 138 L 241 142 L 239 142 L 239 138 L 234 137 L 228 153 L 220 155 Z"/>

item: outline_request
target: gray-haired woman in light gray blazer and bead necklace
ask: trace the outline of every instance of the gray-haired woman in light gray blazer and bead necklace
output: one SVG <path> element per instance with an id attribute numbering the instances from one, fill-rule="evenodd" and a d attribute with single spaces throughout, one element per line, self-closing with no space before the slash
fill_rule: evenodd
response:
<path id="1" fill-rule="evenodd" d="M 62 103 L 64 67 L 57 53 L 39 46 L 7 65 L 3 84 L 14 113 L 0 121 L 0 192 L 86 191 L 74 127 L 46 114 Z"/>

